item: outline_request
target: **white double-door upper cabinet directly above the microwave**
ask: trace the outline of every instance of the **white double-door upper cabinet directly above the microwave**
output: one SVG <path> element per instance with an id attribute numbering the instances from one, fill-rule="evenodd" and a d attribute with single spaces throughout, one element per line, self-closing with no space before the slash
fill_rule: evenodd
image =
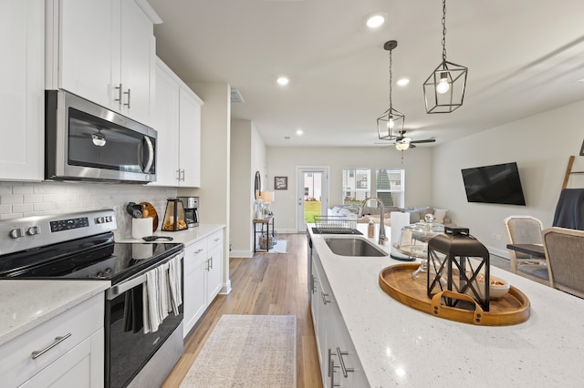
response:
<path id="1" fill-rule="evenodd" d="M 134 0 L 47 5 L 47 89 L 68 90 L 151 125 L 152 18 Z"/>

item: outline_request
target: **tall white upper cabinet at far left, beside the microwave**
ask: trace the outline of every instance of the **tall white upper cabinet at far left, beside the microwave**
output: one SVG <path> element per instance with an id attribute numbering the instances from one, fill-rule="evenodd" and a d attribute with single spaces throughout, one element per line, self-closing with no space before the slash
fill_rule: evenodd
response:
<path id="1" fill-rule="evenodd" d="M 45 1 L 0 1 L 0 180 L 44 179 Z"/>

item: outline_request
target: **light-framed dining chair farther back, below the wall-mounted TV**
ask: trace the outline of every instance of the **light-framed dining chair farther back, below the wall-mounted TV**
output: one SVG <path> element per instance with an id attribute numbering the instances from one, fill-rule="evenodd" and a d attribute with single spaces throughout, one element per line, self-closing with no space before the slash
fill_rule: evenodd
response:
<path id="1" fill-rule="evenodd" d="M 508 244 L 543 244 L 541 232 L 544 226 L 532 216 L 509 216 L 504 220 Z M 509 250 L 511 271 L 532 281 L 551 285 L 547 260 L 536 258 L 517 250 Z"/>

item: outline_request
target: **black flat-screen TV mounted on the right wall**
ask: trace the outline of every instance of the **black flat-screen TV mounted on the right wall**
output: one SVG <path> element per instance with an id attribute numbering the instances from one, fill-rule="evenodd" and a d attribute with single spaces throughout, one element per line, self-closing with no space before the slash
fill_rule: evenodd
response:
<path id="1" fill-rule="evenodd" d="M 516 162 L 463 168 L 469 202 L 526 205 Z"/>

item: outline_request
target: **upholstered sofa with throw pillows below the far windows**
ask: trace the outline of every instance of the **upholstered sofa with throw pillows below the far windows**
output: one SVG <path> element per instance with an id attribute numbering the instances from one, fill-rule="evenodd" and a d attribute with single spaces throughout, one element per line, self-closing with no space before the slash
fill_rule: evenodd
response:
<path id="1" fill-rule="evenodd" d="M 410 222 L 416 223 L 420 220 L 424 220 L 426 214 L 433 215 L 433 222 L 440 224 L 452 223 L 452 220 L 447 217 L 448 210 L 446 209 L 436 209 L 432 206 L 420 206 L 413 208 L 399 208 L 397 206 L 387 206 L 383 208 L 384 221 L 386 226 L 391 226 L 391 212 L 399 211 L 402 213 L 410 213 Z M 363 217 L 359 218 L 359 206 L 357 205 L 339 205 L 328 209 L 328 216 L 336 217 L 346 217 L 349 220 L 357 220 L 357 222 L 369 222 L 373 220 L 375 223 L 380 223 L 381 220 L 381 208 L 379 207 L 363 207 Z"/>

